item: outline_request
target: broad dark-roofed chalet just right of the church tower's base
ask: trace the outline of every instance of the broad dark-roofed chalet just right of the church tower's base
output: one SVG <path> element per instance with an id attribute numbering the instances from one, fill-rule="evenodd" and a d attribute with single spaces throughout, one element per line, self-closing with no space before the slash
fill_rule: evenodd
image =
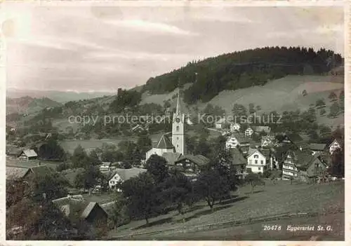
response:
<path id="1" fill-rule="evenodd" d="M 210 160 L 202 155 L 185 155 L 176 160 L 176 168 L 185 173 L 197 174 L 210 163 Z"/>

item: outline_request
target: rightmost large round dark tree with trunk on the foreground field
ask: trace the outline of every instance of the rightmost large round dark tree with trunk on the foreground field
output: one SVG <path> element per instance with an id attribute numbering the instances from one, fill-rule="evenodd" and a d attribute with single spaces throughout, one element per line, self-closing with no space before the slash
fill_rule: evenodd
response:
<path id="1" fill-rule="evenodd" d="M 204 198 L 213 212 L 216 200 L 223 198 L 230 191 L 230 184 L 226 179 L 221 179 L 218 170 L 201 172 L 194 185 L 194 192 L 199 198 Z"/>

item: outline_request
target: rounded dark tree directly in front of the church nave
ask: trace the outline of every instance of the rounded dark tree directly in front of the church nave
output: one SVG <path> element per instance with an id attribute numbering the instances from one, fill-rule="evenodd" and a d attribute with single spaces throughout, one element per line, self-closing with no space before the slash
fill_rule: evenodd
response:
<path id="1" fill-rule="evenodd" d="M 145 163 L 145 168 L 154 178 L 157 184 L 164 182 L 168 177 L 168 167 L 165 158 L 157 155 L 150 156 Z"/>

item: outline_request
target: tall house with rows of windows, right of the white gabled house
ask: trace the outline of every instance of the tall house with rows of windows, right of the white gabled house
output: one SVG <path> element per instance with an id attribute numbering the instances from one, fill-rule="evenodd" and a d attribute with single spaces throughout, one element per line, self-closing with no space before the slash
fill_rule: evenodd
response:
<path id="1" fill-rule="evenodd" d="M 300 168 L 312 160 L 310 151 L 287 151 L 283 160 L 283 179 L 296 179 Z"/>

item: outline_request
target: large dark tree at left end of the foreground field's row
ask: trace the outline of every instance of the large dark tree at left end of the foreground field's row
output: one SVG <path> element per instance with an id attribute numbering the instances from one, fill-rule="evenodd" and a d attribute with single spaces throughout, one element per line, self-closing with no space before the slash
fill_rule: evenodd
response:
<path id="1" fill-rule="evenodd" d="M 131 217 L 143 217 L 149 225 L 149 219 L 160 210 L 156 198 L 156 183 L 149 172 L 132 177 L 122 184 L 122 193 L 128 204 Z"/>

